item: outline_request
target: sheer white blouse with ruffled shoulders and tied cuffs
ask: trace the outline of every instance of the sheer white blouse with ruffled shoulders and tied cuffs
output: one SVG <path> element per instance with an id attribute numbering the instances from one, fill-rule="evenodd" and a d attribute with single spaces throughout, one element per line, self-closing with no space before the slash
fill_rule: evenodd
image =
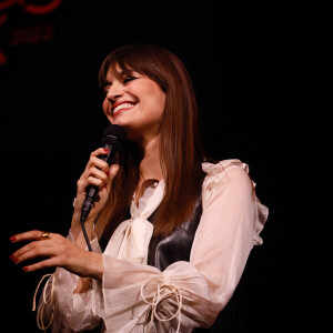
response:
<path id="1" fill-rule="evenodd" d="M 131 204 L 102 253 L 102 281 L 74 294 L 78 279 L 64 269 L 54 274 L 56 310 L 46 306 L 47 322 L 54 314 L 53 332 L 84 332 L 100 324 L 102 332 L 191 332 L 211 326 L 231 299 L 269 210 L 254 193 L 249 167 L 239 160 L 203 163 L 202 215 L 190 261 L 175 262 L 163 272 L 147 264 L 153 225 L 147 220 L 164 193 L 164 182 L 149 188 Z M 69 239 L 72 240 L 71 235 Z M 50 283 L 48 292 L 50 292 Z M 40 305 L 43 303 L 41 300 Z"/>

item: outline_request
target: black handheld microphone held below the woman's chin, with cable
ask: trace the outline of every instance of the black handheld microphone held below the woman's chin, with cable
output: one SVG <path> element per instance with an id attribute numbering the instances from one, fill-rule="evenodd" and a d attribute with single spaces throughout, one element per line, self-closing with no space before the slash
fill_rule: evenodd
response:
<path id="1" fill-rule="evenodd" d="M 108 149 L 109 152 L 107 155 L 99 155 L 99 159 L 105 161 L 109 165 L 112 163 L 115 152 L 121 152 L 125 142 L 125 132 L 124 130 L 117 124 L 110 124 L 103 132 L 102 145 L 104 149 Z M 89 185 L 85 190 L 87 195 L 81 211 L 81 226 L 83 235 L 85 238 L 87 245 L 90 251 L 90 241 L 85 232 L 84 222 L 93 206 L 93 203 L 99 194 L 99 188 L 95 185 Z"/>

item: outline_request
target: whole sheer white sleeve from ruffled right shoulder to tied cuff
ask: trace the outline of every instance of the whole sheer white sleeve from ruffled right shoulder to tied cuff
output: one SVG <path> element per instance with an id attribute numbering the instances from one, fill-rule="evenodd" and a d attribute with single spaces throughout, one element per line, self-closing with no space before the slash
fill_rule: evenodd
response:
<path id="1" fill-rule="evenodd" d="M 165 271 L 104 254 L 95 307 L 108 332 L 191 332 L 211 326 L 234 292 L 268 209 L 255 196 L 248 165 L 204 163 L 203 213 L 190 262 Z"/>

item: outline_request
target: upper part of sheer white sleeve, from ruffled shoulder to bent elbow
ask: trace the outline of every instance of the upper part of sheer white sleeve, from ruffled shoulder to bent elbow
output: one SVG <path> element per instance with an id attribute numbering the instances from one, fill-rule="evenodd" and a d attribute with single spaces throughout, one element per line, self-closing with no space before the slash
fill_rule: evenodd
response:
<path id="1" fill-rule="evenodd" d="M 211 300 L 222 310 L 232 296 L 253 245 L 262 243 L 260 232 L 268 209 L 260 203 L 249 167 L 239 160 L 204 163 L 203 213 L 196 230 L 190 262 L 213 285 Z"/>

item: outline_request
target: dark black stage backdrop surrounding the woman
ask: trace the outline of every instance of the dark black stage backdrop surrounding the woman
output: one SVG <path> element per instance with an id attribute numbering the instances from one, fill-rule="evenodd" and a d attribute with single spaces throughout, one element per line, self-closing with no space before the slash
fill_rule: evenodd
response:
<path id="1" fill-rule="evenodd" d="M 332 330 L 327 8 L 62 0 L 36 14 L 24 1 L 1 3 L 1 285 L 9 332 L 38 332 L 31 306 L 43 272 L 13 265 L 8 256 L 17 246 L 8 239 L 31 229 L 67 234 L 75 182 L 107 125 L 99 67 L 111 50 L 138 41 L 183 60 L 204 147 L 218 159 L 246 162 L 270 208 L 264 244 L 243 275 L 244 332 Z"/>

